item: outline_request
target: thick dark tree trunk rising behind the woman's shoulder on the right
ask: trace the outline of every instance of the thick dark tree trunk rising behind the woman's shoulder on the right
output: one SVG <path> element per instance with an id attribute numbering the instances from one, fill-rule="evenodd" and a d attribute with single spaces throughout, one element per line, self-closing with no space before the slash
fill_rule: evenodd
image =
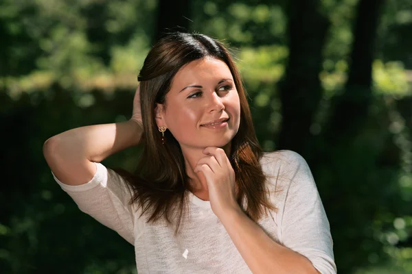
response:
<path id="1" fill-rule="evenodd" d="M 317 0 L 288 1 L 289 58 L 280 83 L 282 124 L 277 149 L 302 153 L 322 97 L 319 73 L 330 25 Z"/>

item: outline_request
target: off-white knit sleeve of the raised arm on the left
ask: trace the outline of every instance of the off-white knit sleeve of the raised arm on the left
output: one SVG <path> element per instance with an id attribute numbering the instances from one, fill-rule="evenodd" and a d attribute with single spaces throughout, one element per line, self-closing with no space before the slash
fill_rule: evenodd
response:
<path id="1" fill-rule="evenodd" d="M 63 184 L 52 175 L 60 187 L 76 202 L 79 209 L 109 227 L 132 245 L 143 230 L 135 207 L 129 204 L 133 193 L 123 177 L 101 163 L 96 164 L 93 178 L 86 184 Z"/>

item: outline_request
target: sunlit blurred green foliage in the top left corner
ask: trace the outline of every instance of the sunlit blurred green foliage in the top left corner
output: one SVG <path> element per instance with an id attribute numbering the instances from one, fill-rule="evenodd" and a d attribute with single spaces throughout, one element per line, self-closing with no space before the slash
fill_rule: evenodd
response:
<path id="1" fill-rule="evenodd" d="M 0 76 L 41 69 L 53 71 L 60 79 L 76 72 L 94 75 L 110 71 L 112 55 L 119 62 L 122 47 L 133 55 L 145 55 L 155 8 L 152 0 L 3 1 L 0 32 L 10 43 L 1 45 L 5 54 Z M 140 64 L 132 68 L 136 71 Z M 118 69 L 119 65 L 115 66 L 115 71 Z"/>

